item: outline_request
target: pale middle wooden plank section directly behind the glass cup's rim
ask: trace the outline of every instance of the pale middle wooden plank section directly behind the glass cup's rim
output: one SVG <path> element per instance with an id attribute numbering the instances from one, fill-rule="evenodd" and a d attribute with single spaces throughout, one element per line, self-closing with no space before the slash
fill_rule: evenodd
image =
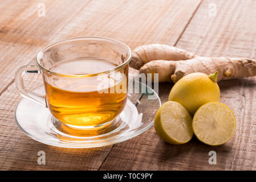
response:
<path id="1" fill-rule="evenodd" d="M 105 36 L 132 49 L 154 42 L 174 44 L 199 3 L 199 0 L 92 1 L 55 40 Z"/>

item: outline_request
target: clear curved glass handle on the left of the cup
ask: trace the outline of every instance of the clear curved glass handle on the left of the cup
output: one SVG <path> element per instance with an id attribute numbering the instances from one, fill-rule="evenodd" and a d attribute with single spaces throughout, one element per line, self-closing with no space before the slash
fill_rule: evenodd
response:
<path id="1" fill-rule="evenodd" d="M 40 74 L 42 72 L 40 71 L 37 65 L 25 65 L 19 68 L 15 75 L 15 84 L 19 94 L 21 94 L 22 97 L 28 98 L 31 101 L 34 101 L 40 105 L 43 105 L 44 107 L 47 107 L 45 96 L 25 89 L 24 82 L 23 82 L 23 75 L 25 73 Z"/>

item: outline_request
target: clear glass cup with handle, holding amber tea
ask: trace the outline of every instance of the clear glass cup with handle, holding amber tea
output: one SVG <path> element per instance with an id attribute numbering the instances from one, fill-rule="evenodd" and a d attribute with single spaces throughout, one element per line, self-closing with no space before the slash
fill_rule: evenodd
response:
<path id="1" fill-rule="evenodd" d="M 44 47 L 37 65 L 17 71 L 21 96 L 47 107 L 55 119 L 76 129 L 113 121 L 127 102 L 131 49 L 116 40 L 76 37 Z M 45 96 L 27 90 L 22 76 L 42 73 Z"/>

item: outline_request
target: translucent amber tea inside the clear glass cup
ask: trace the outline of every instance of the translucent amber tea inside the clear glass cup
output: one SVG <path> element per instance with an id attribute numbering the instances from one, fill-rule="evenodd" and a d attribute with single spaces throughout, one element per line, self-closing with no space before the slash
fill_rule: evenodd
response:
<path id="1" fill-rule="evenodd" d="M 124 75 L 119 79 L 109 75 L 86 78 L 68 75 L 94 74 L 116 66 L 111 61 L 101 59 L 60 61 L 53 65 L 50 71 L 67 76 L 64 79 L 43 77 L 51 114 L 59 121 L 74 126 L 97 126 L 112 121 L 121 113 L 127 101 L 127 92 L 118 92 L 116 88 L 119 91 L 120 87 L 127 89 L 124 86 L 127 86 L 128 65 L 119 71 Z M 99 84 L 105 87 L 99 90 Z"/>

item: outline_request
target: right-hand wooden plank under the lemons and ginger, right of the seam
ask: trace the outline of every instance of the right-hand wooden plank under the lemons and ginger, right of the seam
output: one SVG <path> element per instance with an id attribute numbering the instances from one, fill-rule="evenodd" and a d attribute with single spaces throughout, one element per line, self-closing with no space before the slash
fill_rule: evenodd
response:
<path id="1" fill-rule="evenodd" d="M 216 16 L 212 12 L 214 3 Z M 210 12 L 209 12 L 210 11 Z M 202 56 L 245 56 L 255 59 L 256 2 L 203 1 L 177 43 Z M 195 137 L 187 144 L 164 143 L 151 127 L 147 132 L 116 144 L 101 169 L 125 170 L 255 170 L 256 78 L 221 81 L 221 102 L 234 111 L 237 130 L 222 146 L 210 147 Z M 167 101 L 171 84 L 159 86 Z M 210 165 L 209 151 L 217 152 L 217 164 Z M 122 154 L 122 155 L 120 155 Z"/>

